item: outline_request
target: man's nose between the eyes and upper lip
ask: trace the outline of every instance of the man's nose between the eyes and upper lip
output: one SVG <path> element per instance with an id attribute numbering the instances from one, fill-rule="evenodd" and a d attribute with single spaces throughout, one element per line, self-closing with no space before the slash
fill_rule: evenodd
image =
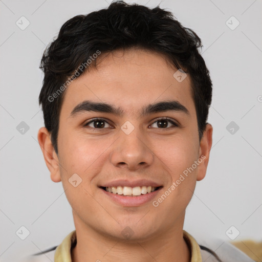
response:
<path id="1" fill-rule="evenodd" d="M 110 160 L 116 167 L 138 170 L 154 162 L 154 154 L 139 128 L 135 128 L 129 135 L 120 130 L 120 137 L 113 145 Z"/>

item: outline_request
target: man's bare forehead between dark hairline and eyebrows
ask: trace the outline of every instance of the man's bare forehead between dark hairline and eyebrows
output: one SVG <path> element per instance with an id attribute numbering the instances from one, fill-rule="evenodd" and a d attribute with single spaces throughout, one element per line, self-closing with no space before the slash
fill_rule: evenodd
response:
<path id="1" fill-rule="evenodd" d="M 194 110 L 189 75 L 179 82 L 161 54 L 145 50 L 121 50 L 101 54 L 96 68 L 71 82 L 65 92 L 61 112 L 70 115 L 84 100 L 105 102 L 133 115 L 141 107 L 163 100 L 177 100 Z M 70 111 L 71 110 L 71 111 Z"/>

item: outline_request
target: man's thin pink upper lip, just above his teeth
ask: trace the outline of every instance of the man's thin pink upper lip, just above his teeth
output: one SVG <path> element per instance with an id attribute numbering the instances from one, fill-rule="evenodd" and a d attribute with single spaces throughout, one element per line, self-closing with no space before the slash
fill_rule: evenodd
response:
<path id="1" fill-rule="evenodd" d="M 127 180 L 127 179 L 120 179 L 114 180 L 110 182 L 103 183 L 100 187 L 117 187 L 117 186 L 128 186 L 128 187 L 136 187 L 136 186 L 154 186 L 159 187 L 161 184 L 147 180 L 147 179 L 139 179 L 139 180 Z"/>

